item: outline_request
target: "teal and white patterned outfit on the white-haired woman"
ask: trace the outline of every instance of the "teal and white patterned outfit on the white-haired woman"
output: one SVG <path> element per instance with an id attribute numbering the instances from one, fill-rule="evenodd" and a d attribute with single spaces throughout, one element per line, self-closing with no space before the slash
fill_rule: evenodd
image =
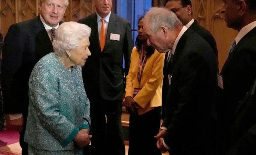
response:
<path id="1" fill-rule="evenodd" d="M 66 70 L 54 53 L 35 65 L 29 79 L 28 121 L 24 141 L 33 155 L 82 155 L 72 141 L 89 129 L 90 103 L 81 66 Z M 33 153 L 34 152 L 34 153 Z"/>

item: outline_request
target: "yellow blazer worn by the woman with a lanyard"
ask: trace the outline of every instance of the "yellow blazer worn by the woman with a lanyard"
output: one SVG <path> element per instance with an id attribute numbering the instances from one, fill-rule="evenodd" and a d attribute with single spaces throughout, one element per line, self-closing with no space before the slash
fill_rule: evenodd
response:
<path id="1" fill-rule="evenodd" d="M 140 105 L 138 113 L 145 113 L 154 107 L 162 105 L 162 85 L 164 53 L 155 50 L 154 54 L 148 57 L 140 81 L 140 92 L 134 97 L 134 101 Z M 139 87 L 137 78 L 140 54 L 137 48 L 132 49 L 131 64 L 128 76 L 126 76 L 125 97 L 133 97 L 134 88 Z"/>

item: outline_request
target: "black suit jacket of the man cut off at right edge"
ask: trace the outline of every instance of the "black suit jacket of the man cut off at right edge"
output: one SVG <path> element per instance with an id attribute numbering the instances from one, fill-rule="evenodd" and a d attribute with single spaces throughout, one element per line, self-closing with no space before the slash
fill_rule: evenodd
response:
<path id="1" fill-rule="evenodd" d="M 218 144 L 226 151 L 227 135 L 238 105 L 256 79 L 256 28 L 246 34 L 228 56 L 222 71 L 223 87 L 218 89 Z"/>

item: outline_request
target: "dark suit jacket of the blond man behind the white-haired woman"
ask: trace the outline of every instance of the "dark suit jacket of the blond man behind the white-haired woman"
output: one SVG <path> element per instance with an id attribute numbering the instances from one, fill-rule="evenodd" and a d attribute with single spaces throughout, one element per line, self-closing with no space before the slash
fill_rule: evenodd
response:
<path id="1" fill-rule="evenodd" d="M 4 39 L 1 63 L 4 113 L 22 113 L 26 122 L 28 79 L 36 62 L 52 51 L 39 15 L 10 26 Z"/>

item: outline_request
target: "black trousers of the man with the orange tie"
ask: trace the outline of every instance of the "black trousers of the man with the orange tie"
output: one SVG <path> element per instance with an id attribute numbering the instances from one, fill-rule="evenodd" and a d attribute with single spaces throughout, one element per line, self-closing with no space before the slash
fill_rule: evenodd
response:
<path id="1" fill-rule="evenodd" d="M 106 117 L 107 121 L 106 121 Z M 97 155 L 125 155 L 122 103 L 102 97 L 90 99 L 91 143 Z"/>

